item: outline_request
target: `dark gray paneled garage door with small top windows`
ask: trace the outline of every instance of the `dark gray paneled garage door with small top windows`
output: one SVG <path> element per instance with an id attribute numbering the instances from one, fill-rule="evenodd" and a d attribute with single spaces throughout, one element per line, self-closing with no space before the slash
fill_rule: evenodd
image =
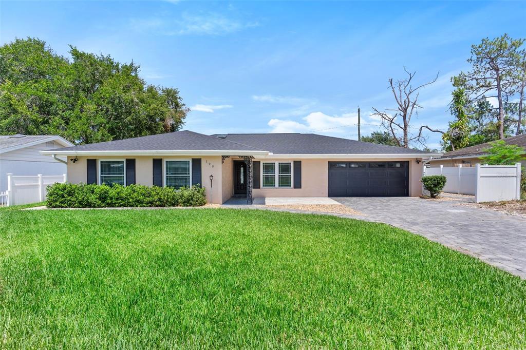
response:
<path id="1" fill-rule="evenodd" d="M 329 197 L 409 195 L 409 162 L 329 162 Z"/>

